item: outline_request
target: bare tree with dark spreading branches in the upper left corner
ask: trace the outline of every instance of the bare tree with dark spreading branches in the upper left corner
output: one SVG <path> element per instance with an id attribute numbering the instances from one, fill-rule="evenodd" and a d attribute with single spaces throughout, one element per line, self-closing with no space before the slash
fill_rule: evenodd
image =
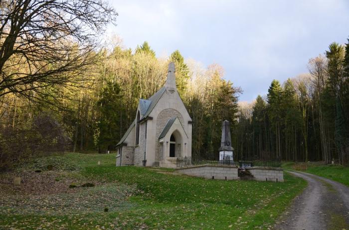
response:
<path id="1" fill-rule="evenodd" d="M 0 97 L 40 100 L 74 84 L 117 15 L 102 0 L 0 0 Z"/>

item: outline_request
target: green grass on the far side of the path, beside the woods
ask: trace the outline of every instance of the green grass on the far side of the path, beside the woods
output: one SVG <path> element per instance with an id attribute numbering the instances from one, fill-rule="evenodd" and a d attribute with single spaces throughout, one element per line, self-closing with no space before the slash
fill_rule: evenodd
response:
<path id="1" fill-rule="evenodd" d="M 293 170 L 296 165 L 294 162 L 286 162 L 283 164 L 283 167 Z M 332 164 L 325 165 L 319 162 L 310 162 L 307 166 L 307 170 L 304 170 L 305 172 L 323 176 L 349 186 L 349 167 Z"/>

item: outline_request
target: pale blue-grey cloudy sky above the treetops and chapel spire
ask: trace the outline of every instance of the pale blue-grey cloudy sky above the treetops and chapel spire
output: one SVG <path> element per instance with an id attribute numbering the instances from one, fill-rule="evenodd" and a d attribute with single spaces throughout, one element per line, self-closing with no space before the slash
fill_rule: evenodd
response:
<path id="1" fill-rule="evenodd" d="M 158 57 L 225 70 L 240 101 L 266 94 L 273 79 L 307 72 L 308 60 L 349 36 L 349 0 L 109 0 L 119 16 L 108 34 L 127 48 L 148 41 Z"/>

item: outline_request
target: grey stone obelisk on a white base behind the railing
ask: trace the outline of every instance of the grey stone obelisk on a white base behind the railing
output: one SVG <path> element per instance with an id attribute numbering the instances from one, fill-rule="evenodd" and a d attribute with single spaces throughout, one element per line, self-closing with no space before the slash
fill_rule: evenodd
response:
<path id="1" fill-rule="evenodd" d="M 220 143 L 219 150 L 219 160 L 230 159 L 233 160 L 233 151 L 231 147 L 231 137 L 230 137 L 230 125 L 229 121 L 225 120 L 222 124 L 222 139 Z"/>

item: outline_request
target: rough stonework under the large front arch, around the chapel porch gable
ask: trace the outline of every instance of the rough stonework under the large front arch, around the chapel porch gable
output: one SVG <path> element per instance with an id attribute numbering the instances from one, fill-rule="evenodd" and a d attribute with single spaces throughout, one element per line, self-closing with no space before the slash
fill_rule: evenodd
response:
<path id="1" fill-rule="evenodd" d="M 156 135 L 155 135 L 155 160 L 162 160 L 162 150 L 159 143 L 159 136 L 161 132 L 163 131 L 164 127 L 166 126 L 167 122 L 172 117 L 178 117 L 180 123 L 183 125 L 183 116 L 175 109 L 164 109 L 161 111 L 157 118 L 157 128 L 156 128 Z M 184 127 L 184 126 L 183 126 Z"/>

